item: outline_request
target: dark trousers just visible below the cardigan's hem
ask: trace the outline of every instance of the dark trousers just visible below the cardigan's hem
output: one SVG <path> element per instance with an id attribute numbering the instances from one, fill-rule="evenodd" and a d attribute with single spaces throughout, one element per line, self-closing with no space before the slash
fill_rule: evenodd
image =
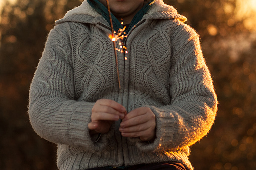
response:
<path id="1" fill-rule="evenodd" d="M 93 168 L 90 170 L 106 170 L 110 168 Z M 113 168 L 119 169 L 119 168 Z M 139 164 L 130 167 L 125 167 L 124 170 L 186 170 L 185 167 L 181 163 L 174 163 L 174 162 L 161 162 L 161 163 L 152 163 L 152 164 Z"/>

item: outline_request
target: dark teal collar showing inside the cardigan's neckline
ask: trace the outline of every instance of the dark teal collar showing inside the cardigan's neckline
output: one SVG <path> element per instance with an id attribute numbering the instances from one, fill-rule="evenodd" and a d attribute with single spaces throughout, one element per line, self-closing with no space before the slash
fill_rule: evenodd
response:
<path id="1" fill-rule="evenodd" d="M 126 32 L 128 33 L 132 27 L 137 24 L 144 14 L 147 13 L 148 9 L 150 6 L 155 2 L 156 0 L 150 0 L 146 5 L 144 5 L 138 13 L 133 17 L 129 27 L 126 29 Z M 98 0 L 87 0 L 87 2 L 92 6 L 98 13 L 100 13 L 109 23 L 110 25 L 110 20 L 109 20 L 109 13 L 107 7 L 105 7 L 102 3 L 100 3 Z M 117 18 L 111 13 L 112 17 L 112 23 L 113 23 L 113 28 L 114 31 L 118 32 L 119 28 L 123 28 L 121 23 L 117 20 Z"/>

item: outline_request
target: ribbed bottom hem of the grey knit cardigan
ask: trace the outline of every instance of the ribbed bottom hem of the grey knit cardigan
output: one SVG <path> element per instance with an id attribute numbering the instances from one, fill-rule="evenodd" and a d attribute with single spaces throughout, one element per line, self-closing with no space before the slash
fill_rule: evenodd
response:
<path id="1" fill-rule="evenodd" d="M 187 150 L 172 151 L 162 151 L 162 152 L 140 152 L 135 146 L 129 146 L 129 157 L 130 159 L 125 161 L 125 163 L 115 163 L 113 157 L 117 155 L 115 149 L 109 150 L 108 152 L 81 152 L 76 155 L 70 156 L 63 163 L 59 164 L 60 170 L 80 170 L 80 169 L 90 169 L 97 167 L 119 167 L 119 166 L 133 166 L 138 164 L 151 164 L 158 162 L 179 162 L 184 165 L 187 170 L 193 170 L 191 163 L 188 160 Z M 68 150 L 63 150 L 68 152 Z M 107 157 L 106 157 L 107 156 Z M 104 161 L 102 161 L 104 160 Z"/>

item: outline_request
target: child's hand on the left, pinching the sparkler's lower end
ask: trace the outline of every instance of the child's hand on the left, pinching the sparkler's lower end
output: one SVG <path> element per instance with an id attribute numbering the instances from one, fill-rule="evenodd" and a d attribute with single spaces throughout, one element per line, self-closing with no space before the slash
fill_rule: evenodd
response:
<path id="1" fill-rule="evenodd" d="M 91 122 L 88 128 L 91 133 L 107 133 L 114 121 L 125 117 L 125 107 L 121 104 L 109 100 L 97 100 L 92 108 Z"/>

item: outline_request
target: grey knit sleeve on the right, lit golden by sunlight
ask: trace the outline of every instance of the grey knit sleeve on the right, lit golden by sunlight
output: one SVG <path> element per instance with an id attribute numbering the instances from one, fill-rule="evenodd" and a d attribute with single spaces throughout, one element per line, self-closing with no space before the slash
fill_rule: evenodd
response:
<path id="1" fill-rule="evenodd" d="M 184 149 L 202 139 L 214 123 L 217 97 L 199 36 L 192 35 L 188 36 L 187 43 L 179 46 L 181 50 L 173 52 L 170 105 L 147 106 L 156 115 L 156 139 L 151 144 L 137 142 L 137 147 L 143 151 Z"/>

